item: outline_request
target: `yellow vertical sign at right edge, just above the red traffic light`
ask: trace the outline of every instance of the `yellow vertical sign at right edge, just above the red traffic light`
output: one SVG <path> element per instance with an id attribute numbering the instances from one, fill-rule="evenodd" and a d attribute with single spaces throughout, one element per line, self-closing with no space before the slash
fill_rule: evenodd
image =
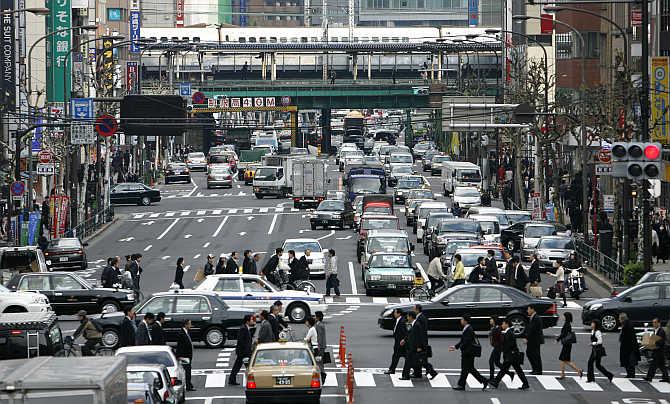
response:
<path id="1" fill-rule="evenodd" d="M 651 58 L 651 141 L 670 144 L 668 106 L 670 105 L 670 57 Z"/>

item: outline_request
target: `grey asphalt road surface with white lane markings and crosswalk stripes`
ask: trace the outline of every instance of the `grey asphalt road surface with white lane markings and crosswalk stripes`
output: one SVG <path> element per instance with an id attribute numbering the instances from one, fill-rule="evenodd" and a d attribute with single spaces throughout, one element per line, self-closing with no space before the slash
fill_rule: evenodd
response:
<path id="1" fill-rule="evenodd" d="M 331 184 L 339 184 L 339 173 L 333 164 L 329 166 Z M 428 177 L 435 193 L 439 194 L 439 177 Z M 353 355 L 355 368 L 356 402 L 364 404 L 407 403 L 410 401 L 433 402 L 438 398 L 454 397 L 459 403 L 506 404 L 529 399 L 546 404 L 565 403 L 606 403 L 669 404 L 670 384 L 647 383 L 642 380 L 628 381 L 620 378 L 618 367 L 618 342 L 616 334 L 605 336 L 605 346 L 609 356 L 604 365 L 617 378 L 610 384 L 605 378 L 587 384 L 575 373 L 568 373 L 563 380 L 557 379 L 560 346 L 553 342 L 552 335 L 558 327 L 545 331 L 546 345 L 543 346 L 544 376 L 529 376 L 531 388 L 521 392 L 516 388 L 520 382 L 504 380 L 498 390 L 482 392 L 474 380 L 468 381 L 468 392 L 456 392 L 459 371 L 459 354 L 450 353 L 447 348 L 457 341 L 455 333 L 432 332 L 430 343 L 434 357 L 431 362 L 439 372 L 438 378 L 401 381 L 399 371 L 395 376 L 384 375 L 388 367 L 393 340 L 391 333 L 378 328 L 377 317 L 388 303 L 406 301 L 404 297 L 366 297 L 360 283 L 360 265 L 356 261 L 356 237 L 351 230 L 310 230 L 307 212 L 293 209 L 289 199 L 256 199 L 251 188 L 243 183 L 235 183 L 232 189 L 206 189 L 204 173 L 194 173 L 190 184 L 160 185 L 163 200 L 148 207 L 119 206 L 116 208 L 118 220 L 104 233 L 95 238 L 87 249 L 89 269 L 82 275 L 89 279 L 99 279 L 103 264 L 108 256 L 139 252 L 143 254 L 142 291 L 145 296 L 164 291 L 172 283 L 175 262 L 185 258 L 189 268 L 185 275 L 187 287 L 192 285 L 193 275 L 206 262 L 209 253 L 218 256 L 233 250 L 251 249 L 266 252 L 263 262 L 274 248 L 281 246 L 287 238 L 313 237 L 319 239 L 324 248 L 334 248 L 339 260 L 339 278 L 342 296 L 329 300 L 326 313 L 328 344 L 333 347 L 335 362 L 340 327 L 344 327 L 347 337 L 347 351 Z M 443 197 L 440 195 L 440 199 Z M 401 223 L 404 221 L 401 218 Z M 411 233 L 411 232 L 410 232 Z M 414 236 L 412 236 L 414 237 Z M 416 239 L 413 240 L 416 244 Z M 424 268 L 428 257 L 422 254 L 417 244 L 416 261 Z M 547 278 L 547 277 L 545 277 Z M 316 280 L 323 293 L 325 283 Z M 545 280 L 545 288 L 549 280 Z M 566 309 L 576 319 L 580 318 L 581 304 L 607 291 L 597 285 L 582 300 L 570 300 Z M 562 321 L 561 321 L 562 322 Z M 561 323 L 559 323 L 560 326 Z M 65 321 L 64 329 L 73 331 L 76 324 Z M 297 334 L 304 335 L 301 324 L 294 324 Z M 588 353 L 588 332 L 578 329 L 578 344 L 573 348 L 573 360 L 586 373 Z M 488 374 L 489 350 L 485 343 L 482 358 L 477 367 Z M 523 342 L 520 341 L 521 344 Z M 523 350 L 523 347 L 522 347 Z M 234 360 L 234 341 L 223 349 L 207 349 L 198 345 L 193 360 L 193 380 L 197 391 L 188 396 L 194 403 L 242 403 L 244 390 L 240 386 L 228 386 L 227 375 Z M 232 360 L 231 360 L 232 359 Z M 403 362 L 401 361 L 401 364 Z M 402 366 L 402 365 L 401 365 Z M 526 366 L 528 364 L 526 363 Z M 346 370 L 330 365 L 328 378 L 323 390 L 323 403 L 343 403 Z M 530 373 L 530 371 L 528 371 Z M 243 372 L 238 381 L 243 382 Z M 551 393 L 551 394 L 547 394 Z M 446 396 L 445 394 L 448 394 Z"/>

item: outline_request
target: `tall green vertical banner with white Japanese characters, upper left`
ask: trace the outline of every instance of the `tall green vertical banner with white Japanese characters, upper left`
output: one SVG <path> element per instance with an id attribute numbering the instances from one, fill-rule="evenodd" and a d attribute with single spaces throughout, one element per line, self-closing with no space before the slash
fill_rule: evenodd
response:
<path id="1" fill-rule="evenodd" d="M 47 37 L 47 101 L 63 102 L 65 91 L 70 91 L 72 60 L 65 63 L 70 50 L 72 31 L 72 9 L 70 0 L 47 0 L 46 7 L 51 10 L 47 17 L 47 32 L 63 30 Z M 66 82 L 63 83 L 63 78 Z"/>

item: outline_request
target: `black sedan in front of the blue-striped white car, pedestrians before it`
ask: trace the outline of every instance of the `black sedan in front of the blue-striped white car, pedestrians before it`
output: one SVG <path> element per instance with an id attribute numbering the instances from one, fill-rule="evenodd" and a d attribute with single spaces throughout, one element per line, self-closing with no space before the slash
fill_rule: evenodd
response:
<path id="1" fill-rule="evenodd" d="M 154 293 L 135 309 L 137 322 L 149 312 L 165 313 L 163 330 L 168 342 L 176 342 L 184 321 L 191 320 L 191 339 L 202 341 L 210 348 L 222 348 L 227 339 L 236 339 L 244 316 L 254 314 L 253 310 L 230 308 L 214 292 L 193 290 Z M 103 314 L 98 317 L 97 322 L 103 328 L 102 342 L 105 346 L 117 347 L 122 321 L 123 313 Z"/>

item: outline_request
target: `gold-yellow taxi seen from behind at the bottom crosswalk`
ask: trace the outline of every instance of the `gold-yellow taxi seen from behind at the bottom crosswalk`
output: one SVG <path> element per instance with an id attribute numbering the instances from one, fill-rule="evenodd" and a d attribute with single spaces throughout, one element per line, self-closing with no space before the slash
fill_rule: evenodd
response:
<path id="1" fill-rule="evenodd" d="M 309 345 L 271 342 L 257 345 L 247 366 L 247 404 L 318 403 L 321 374 Z"/>

